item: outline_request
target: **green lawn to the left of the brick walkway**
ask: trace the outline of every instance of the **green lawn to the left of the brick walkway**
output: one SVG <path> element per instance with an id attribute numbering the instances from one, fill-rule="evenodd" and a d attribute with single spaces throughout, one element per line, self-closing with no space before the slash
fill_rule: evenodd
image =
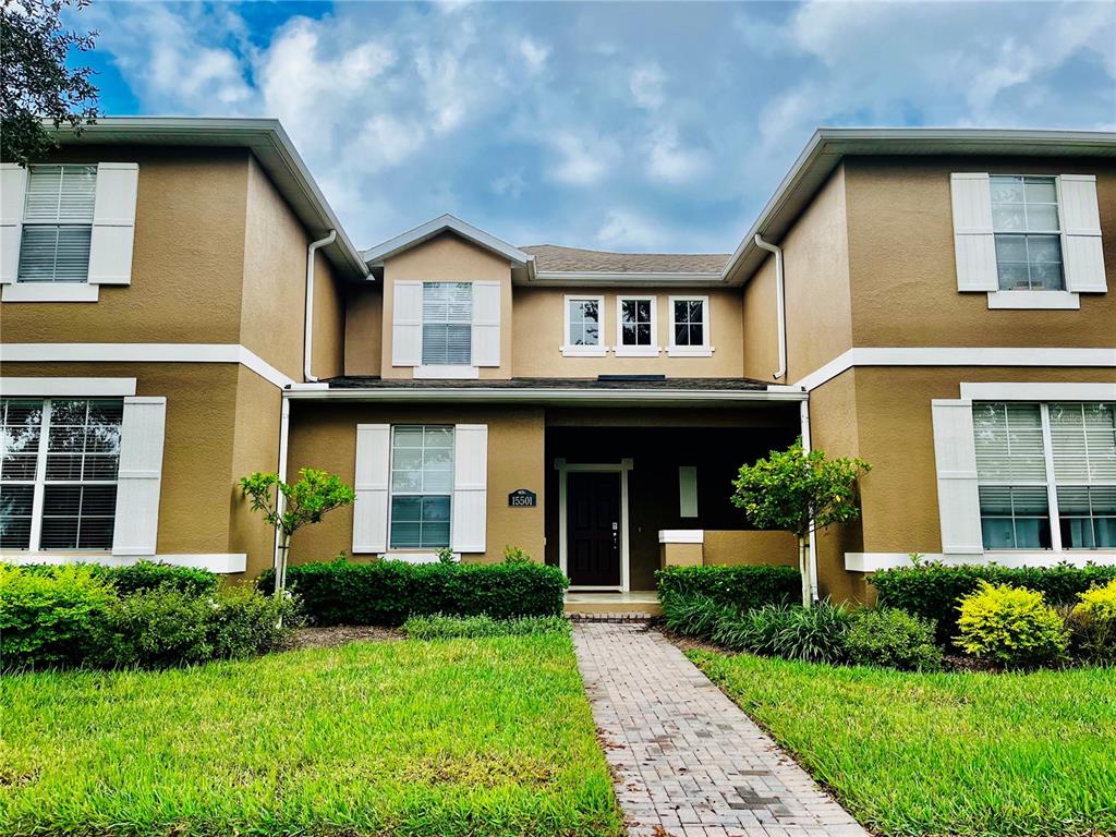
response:
<path id="1" fill-rule="evenodd" d="M 3 835 L 617 835 L 567 635 L 0 677 Z"/>

